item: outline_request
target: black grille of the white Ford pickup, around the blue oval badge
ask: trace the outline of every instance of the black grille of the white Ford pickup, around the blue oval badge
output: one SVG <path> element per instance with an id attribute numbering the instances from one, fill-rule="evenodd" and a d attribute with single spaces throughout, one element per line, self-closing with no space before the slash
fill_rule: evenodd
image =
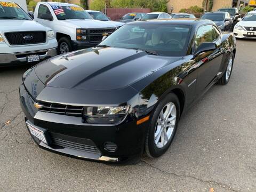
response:
<path id="1" fill-rule="evenodd" d="M 9 32 L 4 34 L 10 45 L 26 45 L 46 42 L 45 31 L 21 31 Z M 31 36 L 33 38 L 25 39 L 24 37 Z"/>

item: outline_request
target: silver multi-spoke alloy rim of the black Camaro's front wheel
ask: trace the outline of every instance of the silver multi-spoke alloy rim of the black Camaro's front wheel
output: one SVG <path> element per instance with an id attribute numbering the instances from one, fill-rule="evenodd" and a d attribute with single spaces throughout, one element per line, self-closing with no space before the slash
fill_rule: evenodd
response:
<path id="1" fill-rule="evenodd" d="M 177 109 L 174 103 L 167 103 L 158 116 L 155 127 L 155 145 L 163 148 L 171 139 L 177 117 Z"/>

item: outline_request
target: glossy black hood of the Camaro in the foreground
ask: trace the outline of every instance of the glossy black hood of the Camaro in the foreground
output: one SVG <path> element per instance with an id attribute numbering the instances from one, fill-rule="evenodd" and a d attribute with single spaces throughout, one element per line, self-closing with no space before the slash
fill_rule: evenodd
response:
<path id="1" fill-rule="evenodd" d="M 35 67 L 35 73 L 48 87 L 114 90 L 132 85 L 179 59 L 131 49 L 90 48 L 46 60 Z"/>

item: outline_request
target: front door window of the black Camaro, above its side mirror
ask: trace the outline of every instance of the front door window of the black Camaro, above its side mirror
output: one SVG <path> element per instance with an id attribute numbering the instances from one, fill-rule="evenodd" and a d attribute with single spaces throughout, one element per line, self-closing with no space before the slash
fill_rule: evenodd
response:
<path id="1" fill-rule="evenodd" d="M 212 25 L 201 26 L 198 28 L 196 32 L 195 38 L 195 46 L 194 48 L 197 49 L 199 45 L 205 42 L 214 42 L 215 40 L 215 32 L 212 28 Z"/>

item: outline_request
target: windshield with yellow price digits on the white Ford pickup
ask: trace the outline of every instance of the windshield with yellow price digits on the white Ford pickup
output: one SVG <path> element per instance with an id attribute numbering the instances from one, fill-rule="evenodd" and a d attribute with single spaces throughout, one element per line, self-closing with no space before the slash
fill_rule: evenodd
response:
<path id="1" fill-rule="evenodd" d="M 26 19 L 31 20 L 29 15 L 19 5 L 12 2 L 0 2 L 0 19 Z M 0 24 L 1 25 L 1 24 Z"/>

